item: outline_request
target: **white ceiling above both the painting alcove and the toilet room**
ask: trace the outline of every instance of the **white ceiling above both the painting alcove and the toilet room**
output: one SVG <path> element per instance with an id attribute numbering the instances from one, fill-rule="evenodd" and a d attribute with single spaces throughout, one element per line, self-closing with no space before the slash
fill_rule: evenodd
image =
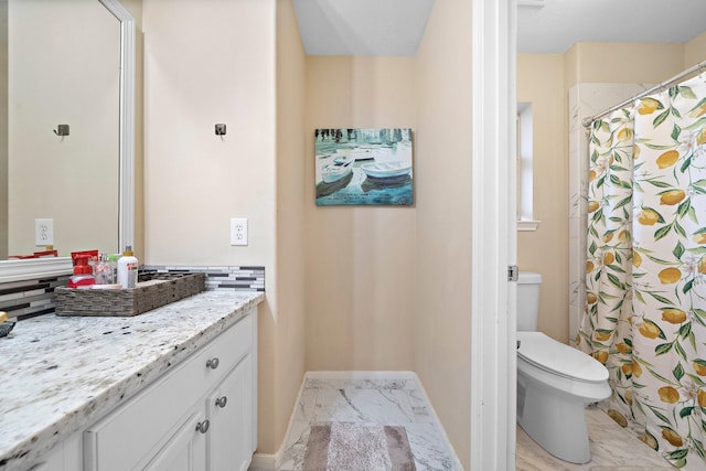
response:
<path id="1" fill-rule="evenodd" d="M 518 3 L 521 53 L 564 53 L 578 41 L 683 43 L 706 31 L 706 0 Z M 415 55 L 434 0 L 293 0 L 293 4 L 309 55 Z"/>

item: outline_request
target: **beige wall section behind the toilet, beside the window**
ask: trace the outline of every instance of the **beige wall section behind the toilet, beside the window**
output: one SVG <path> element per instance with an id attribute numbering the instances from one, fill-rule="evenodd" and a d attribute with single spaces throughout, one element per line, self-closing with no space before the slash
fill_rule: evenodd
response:
<path id="1" fill-rule="evenodd" d="M 538 330 L 568 342 L 567 104 L 561 54 L 518 54 L 517 101 L 532 103 L 535 232 L 517 233 L 517 265 L 542 274 Z"/>

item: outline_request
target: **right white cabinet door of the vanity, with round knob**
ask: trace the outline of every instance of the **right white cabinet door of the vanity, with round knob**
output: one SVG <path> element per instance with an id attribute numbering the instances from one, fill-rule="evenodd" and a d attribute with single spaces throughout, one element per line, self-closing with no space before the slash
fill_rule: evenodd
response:
<path id="1" fill-rule="evenodd" d="M 253 356 L 248 353 L 207 398 L 210 471 L 247 470 L 255 451 L 253 405 Z"/>

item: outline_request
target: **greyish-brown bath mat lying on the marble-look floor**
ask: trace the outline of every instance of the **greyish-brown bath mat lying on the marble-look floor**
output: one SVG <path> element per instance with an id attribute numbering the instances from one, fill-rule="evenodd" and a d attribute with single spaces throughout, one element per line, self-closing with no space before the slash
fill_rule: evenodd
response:
<path id="1" fill-rule="evenodd" d="M 416 471 L 404 427 L 331 422 L 311 426 L 303 471 Z"/>

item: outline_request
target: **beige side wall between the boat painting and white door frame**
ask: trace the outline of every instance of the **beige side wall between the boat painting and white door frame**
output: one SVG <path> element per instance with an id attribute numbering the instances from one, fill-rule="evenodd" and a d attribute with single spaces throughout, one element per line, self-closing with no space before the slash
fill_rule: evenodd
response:
<path id="1" fill-rule="evenodd" d="M 471 2 L 434 4 L 417 54 L 415 370 L 470 465 Z"/>

